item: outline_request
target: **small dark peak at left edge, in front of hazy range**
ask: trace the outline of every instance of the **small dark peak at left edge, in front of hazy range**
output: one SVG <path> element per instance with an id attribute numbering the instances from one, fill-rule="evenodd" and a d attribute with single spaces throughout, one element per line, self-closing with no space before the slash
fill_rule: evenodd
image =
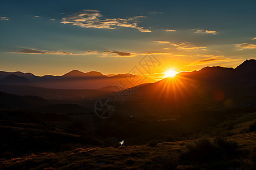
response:
<path id="1" fill-rule="evenodd" d="M 23 76 L 18 76 L 15 74 L 11 74 L 9 76 L 6 76 L 2 80 L 0 80 L 0 84 L 18 85 L 18 86 L 36 86 L 35 83 L 31 82 L 27 78 L 24 78 Z"/>

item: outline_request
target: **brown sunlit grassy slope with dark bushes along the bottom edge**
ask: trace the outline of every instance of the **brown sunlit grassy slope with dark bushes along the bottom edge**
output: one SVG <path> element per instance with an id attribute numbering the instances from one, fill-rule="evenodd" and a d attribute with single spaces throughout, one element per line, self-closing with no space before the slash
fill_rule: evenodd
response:
<path id="1" fill-rule="evenodd" d="M 255 145 L 250 146 L 252 150 L 243 151 L 239 142 L 222 137 L 160 142 L 156 146 L 91 147 L 47 152 L 2 160 L 0 169 L 248 169 L 255 164 Z M 249 154 L 242 154 L 246 151 Z"/>

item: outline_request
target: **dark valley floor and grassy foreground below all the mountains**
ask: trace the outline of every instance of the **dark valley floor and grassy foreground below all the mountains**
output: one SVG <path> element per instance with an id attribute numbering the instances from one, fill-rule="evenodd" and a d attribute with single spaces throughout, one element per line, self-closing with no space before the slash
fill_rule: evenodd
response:
<path id="1" fill-rule="evenodd" d="M 0 169 L 255 169 L 256 113 L 209 124 L 121 117 L 91 122 L 1 109 Z M 124 140 L 123 145 L 119 144 Z M 137 143 L 137 145 L 136 145 Z"/>

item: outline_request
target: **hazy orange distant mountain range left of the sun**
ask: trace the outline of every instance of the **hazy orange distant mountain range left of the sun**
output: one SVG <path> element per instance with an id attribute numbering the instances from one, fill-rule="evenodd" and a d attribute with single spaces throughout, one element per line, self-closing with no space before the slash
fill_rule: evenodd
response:
<path id="1" fill-rule="evenodd" d="M 143 76 L 139 75 L 118 74 L 106 76 L 97 71 L 83 73 L 79 70 L 73 70 L 61 76 L 36 76 L 31 73 L 22 73 L 20 71 L 0 71 L 0 84 L 13 86 L 35 86 L 54 89 L 98 89 L 106 87 L 105 90 L 110 91 L 112 89 L 108 87 L 114 87 L 120 80 L 123 84 L 126 84 L 127 88 L 138 86 L 141 83 L 133 82 L 133 84 L 130 84 L 130 82 L 127 80 L 128 77 L 133 77 L 135 79 L 143 78 L 143 83 L 155 82 L 154 79 L 144 78 Z"/>

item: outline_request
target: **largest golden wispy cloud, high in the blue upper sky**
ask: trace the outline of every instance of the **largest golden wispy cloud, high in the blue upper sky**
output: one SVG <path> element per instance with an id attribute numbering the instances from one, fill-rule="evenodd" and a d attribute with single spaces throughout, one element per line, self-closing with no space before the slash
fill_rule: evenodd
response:
<path id="1" fill-rule="evenodd" d="M 141 32 L 151 32 L 150 30 L 138 27 L 138 22 L 140 18 L 144 18 L 145 16 L 134 16 L 127 19 L 121 18 L 103 18 L 98 10 L 82 10 L 80 12 L 76 12 L 73 15 L 69 15 L 61 19 L 62 24 L 72 24 L 77 27 L 83 28 L 106 28 L 106 29 L 116 29 L 119 27 L 126 28 L 136 28 Z"/>

